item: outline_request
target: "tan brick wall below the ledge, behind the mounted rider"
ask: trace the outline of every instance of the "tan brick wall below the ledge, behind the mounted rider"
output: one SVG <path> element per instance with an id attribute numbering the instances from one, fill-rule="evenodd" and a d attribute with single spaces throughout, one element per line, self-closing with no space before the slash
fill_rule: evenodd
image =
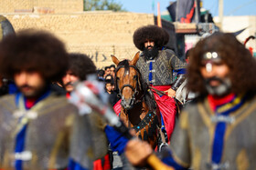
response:
<path id="1" fill-rule="evenodd" d="M 112 65 L 111 55 L 120 59 L 133 57 L 138 51 L 133 45 L 133 32 L 142 25 L 154 25 L 154 15 L 128 12 L 3 15 L 16 31 L 25 28 L 50 31 L 67 45 L 69 52 L 90 55 L 98 68 Z"/>

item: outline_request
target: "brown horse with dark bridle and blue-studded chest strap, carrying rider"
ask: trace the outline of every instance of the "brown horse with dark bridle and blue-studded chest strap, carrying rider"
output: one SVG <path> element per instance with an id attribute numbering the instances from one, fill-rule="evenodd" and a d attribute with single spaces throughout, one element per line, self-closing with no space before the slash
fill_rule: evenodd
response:
<path id="1" fill-rule="evenodd" d="M 148 85 L 143 82 L 136 63 L 137 53 L 133 60 L 119 61 L 112 55 L 112 61 L 117 65 L 115 71 L 115 86 L 122 97 L 120 118 L 124 125 L 133 128 L 136 135 L 147 141 L 153 148 L 157 145 L 159 127 L 159 109 Z"/>

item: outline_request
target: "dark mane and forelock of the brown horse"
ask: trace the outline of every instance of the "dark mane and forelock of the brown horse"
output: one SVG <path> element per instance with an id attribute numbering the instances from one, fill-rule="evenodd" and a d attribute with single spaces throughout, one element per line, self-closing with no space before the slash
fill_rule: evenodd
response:
<path id="1" fill-rule="evenodd" d="M 115 74 L 118 72 L 118 70 L 121 67 L 124 67 L 124 72 L 129 71 L 129 60 L 125 59 L 125 60 L 121 61 L 117 65 Z M 149 86 L 147 85 L 147 83 L 144 82 L 139 69 L 136 66 L 135 66 L 135 69 L 139 74 L 139 81 L 140 81 L 142 92 L 144 94 L 143 100 L 144 100 L 145 104 L 148 106 L 149 110 L 154 111 L 156 109 L 155 97 L 154 97 L 152 91 L 150 90 Z M 116 80 L 115 80 L 115 86 L 117 86 Z"/>

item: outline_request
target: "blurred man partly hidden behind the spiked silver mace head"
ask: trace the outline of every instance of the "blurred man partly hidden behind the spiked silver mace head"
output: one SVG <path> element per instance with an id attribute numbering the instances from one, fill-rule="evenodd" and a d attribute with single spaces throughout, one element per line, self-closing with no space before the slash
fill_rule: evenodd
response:
<path id="1" fill-rule="evenodd" d="M 90 76 L 95 76 L 96 79 L 96 66 L 91 61 L 91 58 L 88 55 L 83 55 L 80 53 L 71 53 L 69 54 L 69 68 L 66 72 L 66 75 L 62 77 L 62 84 L 67 91 L 67 98 L 70 99 L 71 92 L 74 91 L 76 84 L 80 81 L 85 81 Z M 90 121 L 88 121 L 90 119 Z M 89 134 L 89 125 L 90 129 L 90 138 L 92 141 L 91 153 L 94 153 L 93 159 L 98 159 L 93 162 L 93 169 L 111 169 L 110 155 L 108 153 L 108 142 L 101 126 L 101 116 L 97 113 L 95 109 L 91 109 L 87 115 L 80 115 L 76 123 L 76 140 L 74 141 L 73 149 L 76 152 L 80 153 L 78 158 L 84 155 L 83 152 L 80 152 L 81 147 L 88 147 Z M 83 150 L 81 150 L 83 151 Z M 92 152 L 93 151 L 93 152 Z"/>

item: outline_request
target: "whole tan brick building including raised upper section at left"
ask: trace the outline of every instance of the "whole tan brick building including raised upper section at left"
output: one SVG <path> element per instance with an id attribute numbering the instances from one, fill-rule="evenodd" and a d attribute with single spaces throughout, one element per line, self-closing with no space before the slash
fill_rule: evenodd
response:
<path id="1" fill-rule="evenodd" d="M 67 45 L 69 52 L 90 55 L 98 68 L 112 65 L 111 55 L 132 58 L 138 52 L 133 45 L 133 32 L 143 25 L 155 25 L 153 14 L 84 12 L 82 7 L 82 0 L 1 0 L 0 15 L 16 31 L 26 28 L 50 31 Z M 175 42 L 174 25 L 165 22 L 163 27 L 173 33 L 171 39 Z"/>

